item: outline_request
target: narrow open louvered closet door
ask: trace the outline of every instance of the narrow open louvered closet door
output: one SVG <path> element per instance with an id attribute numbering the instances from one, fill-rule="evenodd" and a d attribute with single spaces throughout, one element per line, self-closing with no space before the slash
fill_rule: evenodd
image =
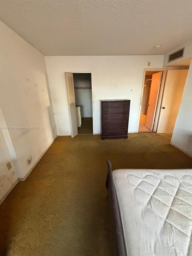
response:
<path id="1" fill-rule="evenodd" d="M 65 72 L 65 79 L 66 79 L 67 98 L 68 98 L 68 106 L 69 106 L 69 114 L 70 114 L 71 137 L 73 138 L 78 134 L 73 74 Z"/>

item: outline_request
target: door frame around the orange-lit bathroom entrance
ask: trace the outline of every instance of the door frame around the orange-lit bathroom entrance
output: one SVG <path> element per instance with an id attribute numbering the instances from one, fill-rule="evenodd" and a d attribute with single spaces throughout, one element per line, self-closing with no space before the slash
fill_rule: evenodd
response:
<path id="1" fill-rule="evenodd" d="M 137 132 L 139 132 L 139 122 L 140 122 L 140 115 L 141 115 L 141 106 L 142 106 L 142 101 L 143 101 L 143 90 L 144 90 L 144 85 L 145 85 L 146 71 L 163 72 L 163 77 L 162 77 L 161 85 L 160 85 L 158 96 L 157 96 L 158 101 L 157 101 L 156 110 L 158 110 L 158 111 L 156 111 L 156 113 L 155 113 L 155 123 L 153 125 L 153 131 L 156 131 L 157 130 L 157 125 L 158 125 L 158 118 L 159 118 L 159 114 L 160 114 L 161 101 L 162 101 L 162 98 L 163 98 L 163 90 L 164 90 L 164 86 L 165 86 L 167 70 L 168 70 L 168 68 L 144 68 L 143 83 L 142 83 L 142 89 L 141 89 L 140 108 L 139 108 L 139 116 L 138 116 L 138 122 L 137 122 Z"/>

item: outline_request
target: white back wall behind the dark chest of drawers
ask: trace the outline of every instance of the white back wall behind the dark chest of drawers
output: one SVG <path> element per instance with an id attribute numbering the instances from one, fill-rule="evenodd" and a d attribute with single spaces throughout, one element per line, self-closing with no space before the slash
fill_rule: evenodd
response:
<path id="1" fill-rule="evenodd" d="M 46 56 L 58 135 L 70 135 L 64 72 L 91 72 L 93 133 L 100 133 L 100 99 L 131 100 L 129 132 L 137 131 L 144 68 L 162 68 L 164 56 Z M 132 91 L 131 91 L 132 90 Z"/>

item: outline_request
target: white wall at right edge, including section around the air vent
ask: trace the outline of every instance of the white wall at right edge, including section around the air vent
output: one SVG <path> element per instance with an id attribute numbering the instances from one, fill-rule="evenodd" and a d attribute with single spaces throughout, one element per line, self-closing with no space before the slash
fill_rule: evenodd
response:
<path id="1" fill-rule="evenodd" d="M 169 65 L 168 56 L 169 54 L 185 47 L 184 56 L 176 61 L 170 63 L 177 63 L 181 60 L 188 59 L 192 57 L 192 41 L 187 44 L 181 45 L 177 49 L 167 53 L 164 56 L 164 67 Z M 182 95 L 182 101 L 179 107 L 179 112 L 177 115 L 175 127 L 173 130 L 173 136 L 171 144 L 178 147 L 183 152 L 192 156 L 192 62 L 190 63 L 189 71 L 187 74 L 187 79 L 184 86 L 184 91 Z"/>

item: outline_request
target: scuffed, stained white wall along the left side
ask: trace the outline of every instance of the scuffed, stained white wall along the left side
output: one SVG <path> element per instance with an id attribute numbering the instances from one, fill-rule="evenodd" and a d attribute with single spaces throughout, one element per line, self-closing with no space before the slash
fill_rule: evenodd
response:
<path id="1" fill-rule="evenodd" d="M 0 105 L 4 124 L 10 127 L 39 127 L 8 130 L 13 149 L 7 147 L 9 151 L 14 150 L 17 159 L 13 159 L 14 154 L 5 152 L 1 167 L 6 170 L 8 160 L 16 160 L 16 171 L 19 178 L 23 178 L 57 135 L 56 125 L 45 57 L 2 22 L 0 34 Z M 28 164 L 30 157 L 32 160 Z"/>

